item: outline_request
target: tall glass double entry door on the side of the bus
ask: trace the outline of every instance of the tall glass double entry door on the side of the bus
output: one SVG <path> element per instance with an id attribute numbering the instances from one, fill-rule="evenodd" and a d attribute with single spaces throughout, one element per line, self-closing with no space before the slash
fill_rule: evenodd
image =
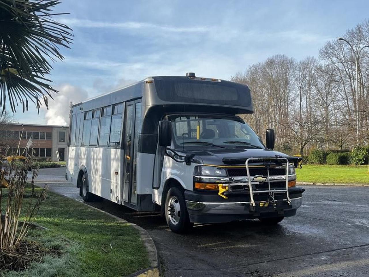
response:
<path id="1" fill-rule="evenodd" d="M 123 201 L 137 204 L 137 150 L 141 132 L 141 100 L 126 103 L 124 130 Z"/>

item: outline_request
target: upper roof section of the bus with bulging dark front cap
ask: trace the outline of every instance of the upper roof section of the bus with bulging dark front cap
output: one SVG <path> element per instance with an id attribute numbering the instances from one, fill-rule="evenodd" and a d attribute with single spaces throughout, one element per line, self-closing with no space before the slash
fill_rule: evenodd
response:
<path id="1" fill-rule="evenodd" d="M 193 75 L 189 75 L 193 74 Z M 137 83 L 72 105 L 83 110 L 143 97 L 143 105 L 187 105 L 228 107 L 238 113 L 252 113 L 251 93 L 240 83 L 187 76 L 153 76 Z"/>

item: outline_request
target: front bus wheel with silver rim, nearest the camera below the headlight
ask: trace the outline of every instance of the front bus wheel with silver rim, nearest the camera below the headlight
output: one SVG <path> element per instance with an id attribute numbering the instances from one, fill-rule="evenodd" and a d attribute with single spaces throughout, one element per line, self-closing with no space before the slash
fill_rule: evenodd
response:
<path id="1" fill-rule="evenodd" d="M 185 233 L 193 223 L 187 212 L 183 192 L 179 188 L 170 188 L 165 199 L 165 219 L 169 229 L 175 233 Z"/>

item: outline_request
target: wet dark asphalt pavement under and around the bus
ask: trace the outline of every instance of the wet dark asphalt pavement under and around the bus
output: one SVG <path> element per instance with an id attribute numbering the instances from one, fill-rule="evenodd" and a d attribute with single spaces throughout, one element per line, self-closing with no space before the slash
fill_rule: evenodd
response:
<path id="1" fill-rule="evenodd" d="M 65 168 L 40 170 L 51 191 L 82 201 L 62 180 Z M 51 178 L 48 182 L 46 178 Z M 258 220 L 195 225 L 170 232 L 158 213 L 110 201 L 91 205 L 145 228 L 165 276 L 369 276 L 369 188 L 306 186 L 297 215 L 279 225 Z"/>

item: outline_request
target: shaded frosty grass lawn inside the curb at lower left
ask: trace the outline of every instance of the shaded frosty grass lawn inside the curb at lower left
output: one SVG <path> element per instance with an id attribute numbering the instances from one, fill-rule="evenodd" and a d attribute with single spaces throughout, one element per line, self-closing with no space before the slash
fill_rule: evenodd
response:
<path id="1" fill-rule="evenodd" d="M 28 239 L 62 255 L 0 276 L 124 276 L 149 266 L 136 229 L 80 202 L 48 192 L 36 222 L 49 230 L 31 230 Z"/>

